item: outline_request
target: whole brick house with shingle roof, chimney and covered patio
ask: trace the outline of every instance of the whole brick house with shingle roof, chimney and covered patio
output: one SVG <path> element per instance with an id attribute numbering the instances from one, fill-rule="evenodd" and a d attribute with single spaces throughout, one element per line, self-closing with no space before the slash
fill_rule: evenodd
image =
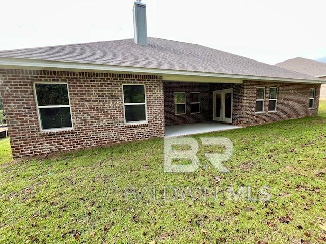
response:
<path id="1" fill-rule="evenodd" d="M 14 158 L 164 137 L 171 125 L 315 116 L 319 78 L 208 47 L 147 38 L 0 52 Z"/>

